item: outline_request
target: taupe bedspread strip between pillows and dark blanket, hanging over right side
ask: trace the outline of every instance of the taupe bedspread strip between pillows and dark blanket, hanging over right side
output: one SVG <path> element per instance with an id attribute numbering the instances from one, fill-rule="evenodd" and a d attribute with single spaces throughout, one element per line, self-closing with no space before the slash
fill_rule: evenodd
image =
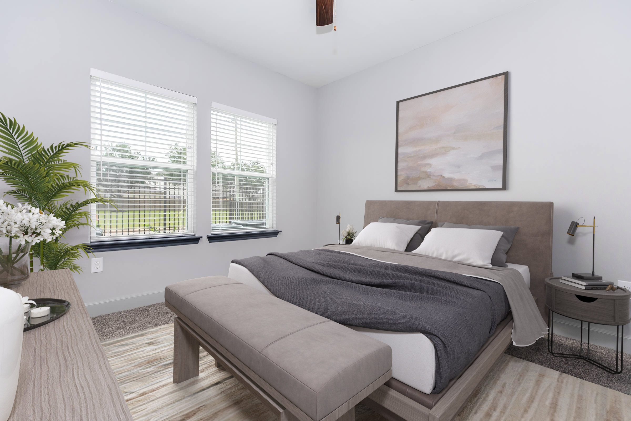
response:
<path id="1" fill-rule="evenodd" d="M 451 273 L 459 273 L 468 276 L 481 276 L 490 278 L 502 285 L 509 300 L 510 309 L 514 319 L 512 341 L 518 347 L 527 347 L 548 332 L 548 326 L 534 302 L 533 295 L 528 290 L 524 278 L 519 271 L 512 268 L 478 268 L 466 263 L 457 263 L 451 260 L 432 258 L 405 251 L 383 249 L 380 247 L 365 247 L 353 245 L 333 245 L 322 247 L 325 249 L 350 252 L 369 259 L 379 261 L 406 264 L 416 268 L 440 270 Z"/>

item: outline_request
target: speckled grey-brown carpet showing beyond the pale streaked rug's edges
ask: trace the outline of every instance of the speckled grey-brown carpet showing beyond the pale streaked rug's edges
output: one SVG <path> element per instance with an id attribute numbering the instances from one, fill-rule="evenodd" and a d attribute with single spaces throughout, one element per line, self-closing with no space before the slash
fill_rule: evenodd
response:
<path id="1" fill-rule="evenodd" d="M 97 330 L 98 338 L 105 341 L 173 323 L 174 317 L 175 314 L 163 302 L 160 302 L 137 309 L 92 317 L 92 323 Z M 554 335 L 554 343 L 555 352 L 565 353 L 578 353 L 580 345 L 578 340 L 560 335 Z M 631 394 L 631 369 L 625 368 L 622 374 L 609 374 L 583 360 L 553 357 L 548 352 L 547 335 L 529 347 L 510 345 L 506 353 L 522 360 L 534 362 L 534 364 L 543 365 L 548 369 L 599 384 L 605 388 Z M 615 366 L 615 351 L 610 348 L 591 345 L 590 356 L 605 365 Z M 625 353 L 624 360 L 625 364 L 631 364 L 631 355 Z"/>

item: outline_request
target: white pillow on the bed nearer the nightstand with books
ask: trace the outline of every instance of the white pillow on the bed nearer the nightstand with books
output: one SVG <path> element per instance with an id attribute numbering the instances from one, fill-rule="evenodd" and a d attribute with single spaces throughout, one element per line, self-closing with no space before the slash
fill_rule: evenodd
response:
<path id="1" fill-rule="evenodd" d="M 501 237 L 502 232 L 495 230 L 433 228 L 413 253 L 490 268 Z"/>

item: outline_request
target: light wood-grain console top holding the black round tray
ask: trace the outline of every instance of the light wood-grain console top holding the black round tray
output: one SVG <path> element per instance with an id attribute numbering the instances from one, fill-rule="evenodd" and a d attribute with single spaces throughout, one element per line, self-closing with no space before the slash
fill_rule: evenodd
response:
<path id="1" fill-rule="evenodd" d="M 24 333 L 9 421 L 133 421 L 68 269 L 35 272 L 15 288 L 71 303 L 68 314 Z"/>

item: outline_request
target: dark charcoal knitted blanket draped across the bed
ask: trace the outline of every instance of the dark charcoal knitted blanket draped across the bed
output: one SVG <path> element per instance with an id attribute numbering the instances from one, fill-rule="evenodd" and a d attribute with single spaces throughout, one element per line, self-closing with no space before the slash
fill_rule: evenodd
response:
<path id="1" fill-rule="evenodd" d="M 471 362 L 507 315 L 510 295 L 520 295 L 507 297 L 504 283 L 465 275 L 502 278 L 507 284 L 518 280 L 528 292 L 516 270 L 501 268 L 493 277 L 488 276 L 491 270 L 375 247 L 270 253 L 234 263 L 251 271 L 276 297 L 338 323 L 425 334 L 436 352 L 433 393 Z M 528 297 L 534 305 L 529 292 Z M 515 311 L 514 317 L 517 324 Z M 541 337 L 543 330 L 539 332 L 529 343 Z"/>

